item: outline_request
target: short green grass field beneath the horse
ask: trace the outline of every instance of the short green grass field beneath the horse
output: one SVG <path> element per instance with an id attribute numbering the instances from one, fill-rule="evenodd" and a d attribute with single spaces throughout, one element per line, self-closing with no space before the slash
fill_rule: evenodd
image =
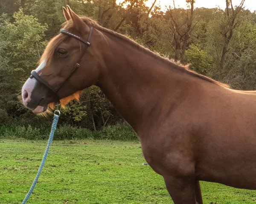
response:
<path id="1" fill-rule="evenodd" d="M 47 141 L 0 139 L 0 204 L 20 204 Z M 28 204 L 171 204 L 138 142 L 54 141 Z M 205 204 L 253 204 L 256 191 L 201 182 Z"/>

